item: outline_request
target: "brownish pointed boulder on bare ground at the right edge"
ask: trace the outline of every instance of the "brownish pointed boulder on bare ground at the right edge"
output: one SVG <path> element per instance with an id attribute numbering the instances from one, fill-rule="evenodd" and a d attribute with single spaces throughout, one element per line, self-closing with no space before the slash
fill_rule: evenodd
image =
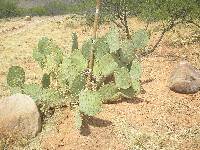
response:
<path id="1" fill-rule="evenodd" d="M 177 93 L 193 94 L 200 90 L 200 70 L 188 61 L 180 61 L 172 71 L 169 88 Z"/>

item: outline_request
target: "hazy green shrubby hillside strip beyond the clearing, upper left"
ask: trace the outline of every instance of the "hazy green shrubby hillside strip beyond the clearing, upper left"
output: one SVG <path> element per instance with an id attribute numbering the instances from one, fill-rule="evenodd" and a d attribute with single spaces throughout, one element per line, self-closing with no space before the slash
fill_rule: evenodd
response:
<path id="1" fill-rule="evenodd" d="M 0 18 L 83 14 L 94 6 L 93 0 L 0 0 Z"/>

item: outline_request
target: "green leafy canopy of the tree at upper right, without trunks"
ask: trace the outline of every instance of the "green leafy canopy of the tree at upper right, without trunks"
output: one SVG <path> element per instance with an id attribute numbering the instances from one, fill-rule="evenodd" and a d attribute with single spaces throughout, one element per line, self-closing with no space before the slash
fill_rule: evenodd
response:
<path id="1" fill-rule="evenodd" d="M 102 9 L 119 17 L 127 13 L 147 21 L 199 19 L 199 0 L 104 0 Z"/>

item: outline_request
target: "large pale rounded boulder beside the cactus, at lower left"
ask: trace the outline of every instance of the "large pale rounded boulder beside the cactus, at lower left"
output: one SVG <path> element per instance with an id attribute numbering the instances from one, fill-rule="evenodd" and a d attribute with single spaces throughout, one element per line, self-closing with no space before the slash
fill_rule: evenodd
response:
<path id="1" fill-rule="evenodd" d="M 29 96 L 15 94 L 0 100 L 0 139 L 32 138 L 40 130 L 40 114 Z"/>

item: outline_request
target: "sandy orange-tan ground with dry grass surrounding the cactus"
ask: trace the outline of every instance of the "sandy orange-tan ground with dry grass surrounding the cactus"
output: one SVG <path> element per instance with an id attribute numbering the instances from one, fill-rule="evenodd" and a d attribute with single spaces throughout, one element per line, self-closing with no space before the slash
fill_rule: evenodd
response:
<path id="1" fill-rule="evenodd" d="M 130 19 L 129 24 L 131 30 L 145 27 L 135 18 Z M 101 26 L 99 36 L 108 29 L 109 25 Z M 159 37 L 160 24 L 152 24 L 149 29 L 152 33 L 150 44 L 153 44 Z M 71 48 L 72 32 L 78 33 L 81 46 L 92 30 L 81 17 L 1 20 L 0 97 L 10 94 L 6 74 L 11 65 L 23 66 L 27 82 L 39 82 L 42 71 L 32 59 L 32 49 L 41 37 L 52 38 L 67 53 Z M 178 26 L 165 36 L 155 52 L 141 58 L 144 91 L 135 99 L 105 104 L 100 114 L 88 118 L 88 125 L 81 133 L 74 127 L 73 111 L 69 108 L 57 110 L 44 125 L 43 132 L 22 149 L 199 150 L 200 92 L 177 94 L 167 86 L 173 67 L 182 57 L 200 68 L 200 43 L 192 41 L 199 32 L 194 26 Z"/>

